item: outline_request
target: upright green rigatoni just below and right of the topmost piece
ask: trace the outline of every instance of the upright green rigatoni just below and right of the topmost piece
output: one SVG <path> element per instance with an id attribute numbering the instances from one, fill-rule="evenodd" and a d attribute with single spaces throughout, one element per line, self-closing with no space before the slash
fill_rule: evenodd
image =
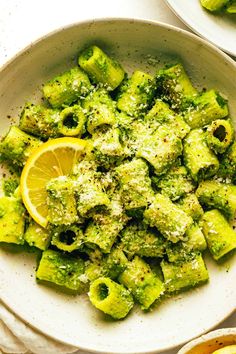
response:
<path id="1" fill-rule="evenodd" d="M 130 116 L 139 117 L 149 109 L 155 90 L 155 80 L 151 75 L 135 71 L 120 88 L 117 108 Z"/>

